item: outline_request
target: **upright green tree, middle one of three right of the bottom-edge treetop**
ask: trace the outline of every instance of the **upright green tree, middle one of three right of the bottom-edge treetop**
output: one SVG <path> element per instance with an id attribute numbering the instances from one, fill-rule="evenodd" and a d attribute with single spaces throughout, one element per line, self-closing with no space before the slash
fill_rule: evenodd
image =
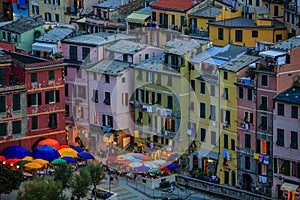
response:
<path id="1" fill-rule="evenodd" d="M 77 197 L 77 199 L 87 196 L 91 184 L 89 171 L 86 168 L 79 168 L 79 173 L 75 174 L 70 184 L 72 195 Z"/>

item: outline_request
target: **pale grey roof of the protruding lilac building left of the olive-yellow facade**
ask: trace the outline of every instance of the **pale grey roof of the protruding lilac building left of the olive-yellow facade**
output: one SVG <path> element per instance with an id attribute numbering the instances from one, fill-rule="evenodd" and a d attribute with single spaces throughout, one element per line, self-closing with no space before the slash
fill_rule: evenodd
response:
<path id="1" fill-rule="evenodd" d="M 96 63 L 93 67 L 88 69 L 87 71 L 95 72 L 95 73 L 103 73 L 111 76 L 117 76 L 124 69 L 129 68 L 129 63 L 117 61 L 117 60 L 102 60 Z"/>

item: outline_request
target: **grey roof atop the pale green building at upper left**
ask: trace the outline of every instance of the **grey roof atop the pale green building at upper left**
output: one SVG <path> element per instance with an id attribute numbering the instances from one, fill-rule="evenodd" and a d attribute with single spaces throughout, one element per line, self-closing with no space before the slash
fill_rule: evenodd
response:
<path id="1" fill-rule="evenodd" d="M 43 22 L 39 18 L 28 17 L 12 21 L 11 23 L 1 26 L 0 29 L 19 34 L 39 26 L 43 26 Z"/>

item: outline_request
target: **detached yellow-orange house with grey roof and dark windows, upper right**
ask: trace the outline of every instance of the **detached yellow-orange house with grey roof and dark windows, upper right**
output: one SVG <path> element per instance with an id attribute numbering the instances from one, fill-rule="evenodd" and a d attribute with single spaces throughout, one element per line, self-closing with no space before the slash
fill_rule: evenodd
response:
<path id="1" fill-rule="evenodd" d="M 284 24 L 273 19 L 265 6 L 255 9 L 254 20 L 239 17 L 238 13 L 223 9 L 217 21 L 208 23 L 213 45 L 231 43 L 254 48 L 256 42 L 277 43 L 287 38 Z"/>

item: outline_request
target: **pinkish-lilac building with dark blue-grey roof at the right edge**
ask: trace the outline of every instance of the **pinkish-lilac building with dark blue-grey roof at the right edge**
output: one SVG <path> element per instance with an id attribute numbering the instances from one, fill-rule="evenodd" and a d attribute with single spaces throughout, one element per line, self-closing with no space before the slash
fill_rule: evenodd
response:
<path id="1" fill-rule="evenodd" d="M 274 191 L 276 197 L 300 198 L 300 87 L 275 97 L 274 109 Z"/>

